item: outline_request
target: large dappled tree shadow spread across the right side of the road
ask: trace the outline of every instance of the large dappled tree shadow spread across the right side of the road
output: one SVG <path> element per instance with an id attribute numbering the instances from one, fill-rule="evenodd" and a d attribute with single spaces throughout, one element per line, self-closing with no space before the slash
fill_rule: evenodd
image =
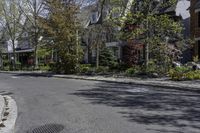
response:
<path id="1" fill-rule="evenodd" d="M 200 94 L 158 88 L 144 90 L 125 84 L 98 83 L 96 88 L 78 90 L 73 95 L 85 97 L 92 104 L 123 108 L 126 111 L 119 113 L 131 122 L 200 131 Z"/>

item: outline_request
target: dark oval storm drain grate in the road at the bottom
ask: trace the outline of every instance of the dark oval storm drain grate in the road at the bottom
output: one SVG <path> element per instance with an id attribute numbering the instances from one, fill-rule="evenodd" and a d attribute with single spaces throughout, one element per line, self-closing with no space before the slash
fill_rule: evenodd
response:
<path id="1" fill-rule="evenodd" d="M 46 124 L 37 128 L 34 128 L 27 133 L 60 133 L 64 129 L 60 124 Z"/>

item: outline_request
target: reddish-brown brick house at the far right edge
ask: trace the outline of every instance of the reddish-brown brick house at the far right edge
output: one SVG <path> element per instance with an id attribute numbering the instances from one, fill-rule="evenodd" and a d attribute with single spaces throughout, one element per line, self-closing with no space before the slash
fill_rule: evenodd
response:
<path id="1" fill-rule="evenodd" d="M 195 43 L 193 46 L 193 56 L 200 58 L 200 1 L 191 0 L 191 38 Z"/>

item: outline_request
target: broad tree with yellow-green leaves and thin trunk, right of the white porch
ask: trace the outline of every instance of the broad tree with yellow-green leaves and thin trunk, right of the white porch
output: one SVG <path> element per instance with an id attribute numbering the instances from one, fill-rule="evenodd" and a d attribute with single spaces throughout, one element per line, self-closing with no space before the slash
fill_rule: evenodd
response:
<path id="1" fill-rule="evenodd" d="M 181 23 L 170 15 L 159 12 L 163 8 L 174 5 L 177 0 L 169 0 L 165 3 L 156 0 L 129 0 L 126 6 L 124 4 L 120 6 L 121 0 L 110 0 L 110 2 L 116 5 L 111 13 L 120 14 L 118 18 L 110 17 L 111 21 L 122 29 L 120 38 L 139 40 L 144 44 L 145 68 L 148 68 L 149 59 L 155 59 L 159 64 L 162 61 L 162 64 L 165 64 L 173 51 L 180 51 L 178 48 L 182 47 L 183 43 L 179 43 L 180 45 L 176 43 L 173 48 L 169 48 L 166 38 L 174 42 L 182 41 Z"/>

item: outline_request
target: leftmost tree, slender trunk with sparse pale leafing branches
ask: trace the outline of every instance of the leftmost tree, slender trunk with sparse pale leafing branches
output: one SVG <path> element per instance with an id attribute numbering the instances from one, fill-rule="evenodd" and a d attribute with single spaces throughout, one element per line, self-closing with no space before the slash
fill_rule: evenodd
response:
<path id="1" fill-rule="evenodd" d="M 5 28 L 6 34 L 8 35 L 12 44 L 13 53 L 13 67 L 16 69 L 16 53 L 15 48 L 17 47 L 17 39 L 21 35 L 23 25 L 23 15 L 20 11 L 19 5 L 22 1 L 20 0 L 1 0 L 0 1 L 0 26 Z"/>

